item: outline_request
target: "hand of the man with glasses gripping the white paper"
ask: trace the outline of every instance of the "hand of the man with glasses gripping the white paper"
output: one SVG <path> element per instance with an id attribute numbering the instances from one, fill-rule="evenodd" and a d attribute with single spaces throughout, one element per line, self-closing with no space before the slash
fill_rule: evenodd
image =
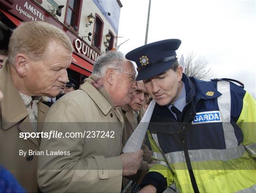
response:
<path id="1" fill-rule="evenodd" d="M 141 166 L 143 160 L 143 150 L 140 149 L 132 153 L 124 153 L 120 155 L 123 163 L 123 175 L 134 175 Z"/>

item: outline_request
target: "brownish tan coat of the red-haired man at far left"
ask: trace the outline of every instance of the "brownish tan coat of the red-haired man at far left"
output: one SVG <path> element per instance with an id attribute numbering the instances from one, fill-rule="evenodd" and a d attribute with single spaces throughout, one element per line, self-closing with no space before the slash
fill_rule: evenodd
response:
<path id="1" fill-rule="evenodd" d="M 19 138 L 20 132 L 33 132 L 26 106 L 18 90 L 13 85 L 9 73 L 9 63 L 4 63 L 0 70 L 0 90 L 4 98 L 0 101 L 0 164 L 6 167 L 27 190 L 37 192 L 37 157 L 19 155 L 19 150 L 36 151 L 39 142 L 36 138 L 24 140 Z M 42 129 L 42 123 L 49 107 L 38 103 L 37 130 Z M 28 153 L 27 153 L 28 154 Z"/>

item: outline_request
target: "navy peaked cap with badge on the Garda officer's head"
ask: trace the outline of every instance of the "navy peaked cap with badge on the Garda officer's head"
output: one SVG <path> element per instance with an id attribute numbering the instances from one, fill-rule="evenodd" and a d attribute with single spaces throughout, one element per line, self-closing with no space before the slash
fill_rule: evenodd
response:
<path id="1" fill-rule="evenodd" d="M 126 58 L 135 61 L 138 75 L 136 80 L 143 80 L 170 69 L 177 60 L 175 50 L 180 47 L 181 40 L 168 39 L 146 44 L 126 54 Z"/>

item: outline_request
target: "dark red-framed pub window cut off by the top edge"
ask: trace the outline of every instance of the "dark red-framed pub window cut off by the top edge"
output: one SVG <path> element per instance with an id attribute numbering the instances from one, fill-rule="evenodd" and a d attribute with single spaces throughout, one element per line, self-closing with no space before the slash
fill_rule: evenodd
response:
<path id="1" fill-rule="evenodd" d="M 75 31 L 78 32 L 80 15 L 82 9 L 82 0 L 68 0 L 66 15 L 65 15 L 65 24 L 72 26 Z"/>

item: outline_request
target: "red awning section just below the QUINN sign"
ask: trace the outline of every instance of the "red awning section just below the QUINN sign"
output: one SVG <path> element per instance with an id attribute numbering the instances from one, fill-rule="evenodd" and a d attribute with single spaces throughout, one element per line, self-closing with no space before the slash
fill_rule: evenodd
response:
<path id="1" fill-rule="evenodd" d="M 86 76 L 90 76 L 93 69 L 92 64 L 88 61 L 83 60 L 74 53 L 72 54 L 72 57 L 72 64 L 69 68 Z"/>

